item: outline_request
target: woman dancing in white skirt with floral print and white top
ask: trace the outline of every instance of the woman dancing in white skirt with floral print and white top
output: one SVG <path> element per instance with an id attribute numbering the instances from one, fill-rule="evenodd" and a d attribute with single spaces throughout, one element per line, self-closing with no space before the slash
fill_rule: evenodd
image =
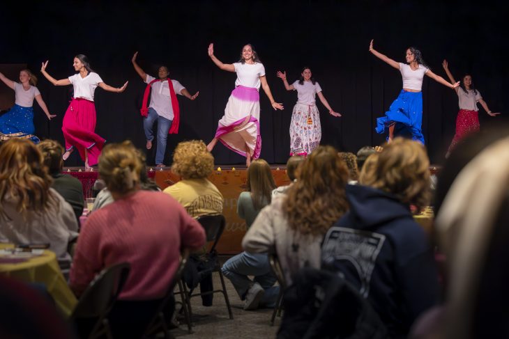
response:
<path id="1" fill-rule="evenodd" d="M 307 157 L 320 145 L 321 140 L 320 113 L 315 96 L 318 95 L 321 103 L 328 109 L 331 116 L 341 116 L 341 114 L 331 109 L 321 93 L 320 85 L 312 78 L 309 67 L 303 68 L 301 79 L 296 80 L 291 85 L 287 81 L 287 72 L 278 71 L 277 75 L 282 79 L 284 88 L 297 90 L 298 100 L 294 106 L 294 111 L 291 113 L 290 155 Z"/>

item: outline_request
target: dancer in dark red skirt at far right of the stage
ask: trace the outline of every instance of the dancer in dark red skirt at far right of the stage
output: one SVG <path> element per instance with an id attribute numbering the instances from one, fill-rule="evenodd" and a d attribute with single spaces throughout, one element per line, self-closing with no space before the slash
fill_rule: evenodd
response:
<path id="1" fill-rule="evenodd" d="M 450 81 L 456 82 L 453 74 L 449 70 L 449 65 L 446 60 L 442 63 L 443 69 L 446 70 L 447 76 Z M 461 87 L 461 88 L 460 88 Z M 463 81 L 459 87 L 454 89 L 459 99 L 459 112 L 456 118 L 456 133 L 453 141 L 450 143 L 446 157 L 449 157 L 450 152 L 456 147 L 457 143 L 464 138 L 467 134 L 479 131 L 479 115 L 477 103 L 485 109 L 489 116 L 496 116 L 500 113 L 493 113 L 489 110 L 488 105 L 480 96 L 479 91 L 473 86 L 472 76 L 465 74 Z"/>

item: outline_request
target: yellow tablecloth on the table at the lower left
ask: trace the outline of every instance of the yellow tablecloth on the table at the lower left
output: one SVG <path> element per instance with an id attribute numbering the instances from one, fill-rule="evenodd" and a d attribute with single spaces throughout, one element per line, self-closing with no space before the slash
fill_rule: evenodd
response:
<path id="1" fill-rule="evenodd" d="M 14 247 L 14 245 L 0 244 L 0 249 L 10 247 Z M 56 306 L 66 316 L 69 316 L 76 306 L 77 299 L 70 290 L 66 279 L 63 278 L 59 263 L 56 261 L 56 255 L 52 251 L 45 250 L 42 255 L 24 262 L 0 264 L 0 274 L 17 278 L 26 283 L 44 283 Z"/>

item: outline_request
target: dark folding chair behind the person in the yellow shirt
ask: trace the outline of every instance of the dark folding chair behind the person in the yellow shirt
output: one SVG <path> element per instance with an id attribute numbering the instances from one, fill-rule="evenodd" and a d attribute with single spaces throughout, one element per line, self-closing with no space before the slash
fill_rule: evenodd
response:
<path id="1" fill-rule="evenodd" d="M 211 258 L 217 254 L 217 252 L 215 251 L 215 246 L 219 242 L 219 239 L 222 235 L 222 231 L 225 230 L 225 226 L 226 226 L 225 216 L 223 216 L 222 214 L 205 215 L 205 216 L 200 216 L 197 219 L 197 221 L 200 224 L 202 224 L 202 226 L 205 230 L 207 242 L 213 242 L 210 251 L 208 251 L 208 253 L 206 253 L 207 257 Z M 188 322 L 188 326 L 190 326 L 191 318 L 192 318 L 190 298 L 202 296 L 202 295 L 206 295 L 206 294 L 222 293 L 223 297 L 225 297 L 225 302 L 226 302 L 226 306 L 228 309 L 229 318 L 230 319 L 234 318 L 233 313 L 231 313 L 231 306 L 229 303 L 228 294 L 227 294 L 227 290 L 226 290 L 225 278 L 222 276 L 221 265 L 220 265 L 219 261 L 216 262 L 216 265 L 215 265 L 215 267 L 213 267 L 212 272 L 219 273 L 222 289 L 190 294 L 190 291 L 188 291 L 187 287 L 185 286 L 185 282 L 182 280 L 180 280 L 178 282 L 178 287 L 179 287 L 180 294 L 182 296 L 182 301 L 183 301 L 182 303 L 183 303 L 184 313 L 187 313 L 187 314 L 185 314 L 185 317 L 186 317 L 186 321 Z M 186 308 L 187 308 L 187 312 L 186 312 Z"/>

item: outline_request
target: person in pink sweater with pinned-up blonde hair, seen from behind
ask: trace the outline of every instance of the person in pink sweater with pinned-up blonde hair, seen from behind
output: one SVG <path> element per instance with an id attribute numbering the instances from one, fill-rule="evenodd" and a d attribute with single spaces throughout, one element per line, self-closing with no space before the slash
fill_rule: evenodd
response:
<path id="1" fill-rule="evenodd" d="M 130 264 L 109 317 L 118 338 L 127 338 L 119 331 L 127 331 L 129 338 L 142 335 L 144 322 L 167 293 L 181 250 L 198 249 L 206 242 L 202 226 L 174 198 L 139 190 L 142 163 L 136 152 L 128 141 L 102 150 L 100 177 L 115 201 L 91 214 L 82 226 L 70 271 L 70 287 L 79 296 L 105 267 Z"/>

